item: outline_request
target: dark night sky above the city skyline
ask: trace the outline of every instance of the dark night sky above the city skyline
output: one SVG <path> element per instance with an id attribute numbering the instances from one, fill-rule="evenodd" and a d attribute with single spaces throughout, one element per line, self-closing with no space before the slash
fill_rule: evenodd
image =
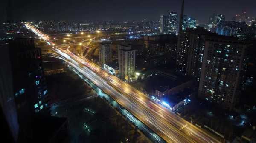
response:
<path id="1" fill-rule="evenodd" d="M 6 19 L 6 3 L 0 4 L 0 21 Z M 180 13 L 180 0 L 12 0 L 13 19 L 44 21 L 159 20 L 169 11 Z M 247 11 L 256 17 L 256 0 L 185 0 L 184 14 L 207 22 L 213 11 L 231 20 Z"/>

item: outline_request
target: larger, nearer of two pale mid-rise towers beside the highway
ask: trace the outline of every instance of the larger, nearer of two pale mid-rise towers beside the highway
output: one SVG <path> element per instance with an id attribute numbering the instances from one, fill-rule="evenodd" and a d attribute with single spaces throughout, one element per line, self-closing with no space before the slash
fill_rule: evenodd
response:
<path id="1" fill-rule="evenodd" d="M 119 74 L 121 79 L 128 79 L 134 76 L 135 56 L 135 50 L 131 49 L 131 45 L 120 45 Z"/>

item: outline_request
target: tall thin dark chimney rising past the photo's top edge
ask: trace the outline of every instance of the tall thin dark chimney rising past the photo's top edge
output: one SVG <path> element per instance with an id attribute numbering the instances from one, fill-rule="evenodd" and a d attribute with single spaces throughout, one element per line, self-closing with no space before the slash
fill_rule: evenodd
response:
<path id="1" fill-rule="evenodd" d="M 178 64 L 178 53 L 181 48 L 181 34 L 182 34 L 182 23 L 183 23 L 183 14 L 184 14 L 184 0 L 181 0 L 181 11 L 180 11 L 180 22 L 179 22 L 179 31 L 178 31 L 178 42 L 177 42 L 177 57 L 176 57 L 176 65 Z"/>

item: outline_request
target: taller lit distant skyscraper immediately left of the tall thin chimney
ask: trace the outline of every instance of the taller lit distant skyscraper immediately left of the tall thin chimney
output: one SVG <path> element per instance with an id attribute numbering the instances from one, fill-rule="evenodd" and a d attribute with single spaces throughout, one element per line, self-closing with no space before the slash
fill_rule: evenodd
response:
<path id="1" fill-rule="evenodd" d="M 177 12 L 170 12 L 168 18 L 168 33 L 177 34 L 178 28 L 178 14 Z"/>

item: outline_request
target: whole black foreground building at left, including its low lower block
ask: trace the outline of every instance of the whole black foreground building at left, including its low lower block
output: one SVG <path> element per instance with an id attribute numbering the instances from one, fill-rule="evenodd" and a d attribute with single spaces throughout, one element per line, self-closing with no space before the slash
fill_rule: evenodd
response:
<path id="1" fill-rule="evenodd" d="M 50 116 L 41 49 L 35 48 L 32 38 L 11 39 L 0 47 L 1 115 L 14 142 L 65 140 L 67 119 Z M 64 137 L 58 138 L 60 134 Z"/>

